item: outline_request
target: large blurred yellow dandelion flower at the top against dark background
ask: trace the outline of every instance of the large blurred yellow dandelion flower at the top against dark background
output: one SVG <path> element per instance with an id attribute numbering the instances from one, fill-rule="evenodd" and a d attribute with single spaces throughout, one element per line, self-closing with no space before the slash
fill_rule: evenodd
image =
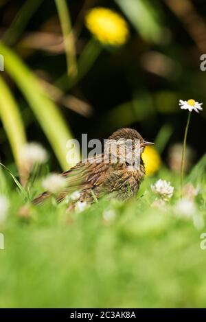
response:
<path id="1" fill-rule="evenodd" d="M 124 45 L 129 36 L 126 21 L 107 8 L 91 9 L 86 16 L 86 25 L 93 36 L 104 45 Z"/>

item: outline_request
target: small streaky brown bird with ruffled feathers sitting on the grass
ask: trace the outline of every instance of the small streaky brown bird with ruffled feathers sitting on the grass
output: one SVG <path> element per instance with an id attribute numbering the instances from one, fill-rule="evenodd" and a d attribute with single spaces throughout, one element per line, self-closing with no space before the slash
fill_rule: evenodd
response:
<path id="1" fill-rule="evenodd" d="M 80 202 L 93 203 L 104 195 L 126 200 L 137 194 L 144 180 L 145 166 L 142 153 L 153 145 L 133 128 L 116 130 L 104 146 L 104 152 L 84 159 L 73 168 L 60 174 L 67 179 L 67 186 L 56 195 L 60 203 L 72 192 L 80 192 Z M 43 192 L 33 200 L 34 205 L 43 203 L 51 194 Z"/>

